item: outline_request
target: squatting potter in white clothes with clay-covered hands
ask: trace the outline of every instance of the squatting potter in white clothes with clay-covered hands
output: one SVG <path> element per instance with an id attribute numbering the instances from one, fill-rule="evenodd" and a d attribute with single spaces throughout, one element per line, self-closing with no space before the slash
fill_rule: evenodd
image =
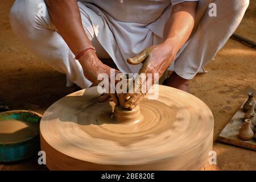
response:
<path id="1" fill-rule="evenodd" d="M 204 72 L 249 5 L 249 0 L 214 1 L 218 13 L 211 17 L 212 2 L 17 0 L 10 23 L 31 52 L 67 75 L 67 86 L 97 85 L 101 73 L 110 78 L 111 68 L 100 59 L 111 59 L 114 74 L 157 73 L 164 85 L 190 92 L 189 80 Z M 44 16 L 39 7 L 47 8 Z M 167 69 L 174 71 L 168 78 Z M 133 109 L 146 92 L 127 95 L 122 105 Z M 114 93 L 100 100 L 110 97 L 119 104 Z"/>

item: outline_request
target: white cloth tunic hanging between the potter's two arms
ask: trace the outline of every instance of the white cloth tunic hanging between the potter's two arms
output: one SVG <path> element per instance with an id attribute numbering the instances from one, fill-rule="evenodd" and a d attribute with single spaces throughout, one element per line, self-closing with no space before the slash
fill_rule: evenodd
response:
<path id="1" fill-rule="evenodd" d="M 185 1 L 199 0 L 81 0 L 78 5 L 118 69 L 138 73 L 142 65 L 130 65 L 126 60 L 161 43 L 171 7 Z"/>

